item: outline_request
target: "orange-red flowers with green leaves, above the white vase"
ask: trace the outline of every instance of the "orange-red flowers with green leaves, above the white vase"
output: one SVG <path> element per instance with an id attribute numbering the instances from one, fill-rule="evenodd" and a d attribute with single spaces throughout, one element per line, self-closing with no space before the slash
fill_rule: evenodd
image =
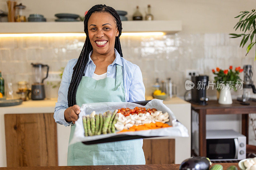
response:
<path id="1" fill-rule="evenodd" d="M 233 66 L 229 66 L 229 70 L 222 70 L 219 67 L 216 67 L 216 71 L 212 69 L 212 73 L 216 76 L 214 77 L 214 83 L 216 83 L 216 89 L 221 90 L 222 85 L 228 85 L 231 89 L 237 90 L 235 86 L 241 83 L 239 73 L 244 70 L 241 67 L 236 67 L 235 70 L 232 70 Z"/>

